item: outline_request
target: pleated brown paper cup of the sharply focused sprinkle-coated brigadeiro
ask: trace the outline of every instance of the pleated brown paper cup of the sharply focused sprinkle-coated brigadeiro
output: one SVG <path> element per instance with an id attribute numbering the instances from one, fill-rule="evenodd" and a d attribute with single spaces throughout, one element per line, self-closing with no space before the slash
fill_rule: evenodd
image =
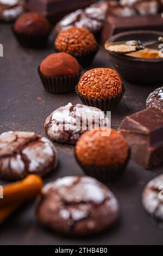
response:
<path id="1" fill-rule="evenodd" d="M 76 93 L 78 94 L 78 96 L 80 97 L 80 100 L 82 101 L 82 103 L 84 105 L 87 106 L 91 106 L 91 107 L 97 107 L 99 109 L 101 109 L 102 111 L 106 112 L 106 111 L 114 111 L 117 106 L 120 104 L 122 97 L 124 95 L 124 93 L 126 92 L 126 86 L 124 84 L 122 84 L 122 93 L 114 96 L 114 97 L 108 97 L 108 98 L 87 98 L 84 97 L 82 94 L 79 93 L 78 91 L 78 85 L 76 86 Z"/>

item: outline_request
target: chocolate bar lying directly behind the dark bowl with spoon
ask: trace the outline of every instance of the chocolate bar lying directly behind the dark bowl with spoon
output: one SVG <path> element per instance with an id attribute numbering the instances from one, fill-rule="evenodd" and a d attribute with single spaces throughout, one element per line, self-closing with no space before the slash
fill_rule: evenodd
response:
<path id="1" fill-rule="evenodd" d="M 102 31 L 102 42 L 110 36 L 124 31 L 133 30 L 155 30 L 163 31 L 163 19 L 161 14 L 139 17 L 115 17 L 108 16 Z"/>

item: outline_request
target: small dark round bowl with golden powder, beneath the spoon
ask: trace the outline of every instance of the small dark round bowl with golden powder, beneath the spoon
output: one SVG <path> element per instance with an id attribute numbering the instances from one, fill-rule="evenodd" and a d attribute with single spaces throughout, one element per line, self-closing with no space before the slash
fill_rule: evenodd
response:
<path id="1" fill-rule="evenodd" d="M 163 36 L 163 32 L 130 31 L 116 34 L 109 38 L 106 43 L 125 40 L 156 40 L 159 36 Z M 118 54 L 116 50 L 109 51 L 109 58 L 120 75 L 129 82 L 137 84 L 163 82 L 163 44 L 153 44 L 143 50 L 128 54 Z"/>

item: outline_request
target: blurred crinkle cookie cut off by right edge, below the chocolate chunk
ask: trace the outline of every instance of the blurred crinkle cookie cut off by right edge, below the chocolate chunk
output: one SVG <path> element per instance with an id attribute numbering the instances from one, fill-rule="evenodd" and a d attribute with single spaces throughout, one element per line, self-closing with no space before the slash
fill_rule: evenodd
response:
<path id="1" fill-rule="evenodd" d="M 163 221 L 163 175 L 147 184 L 143 191 L 142 204 L 149 215 Z"/>

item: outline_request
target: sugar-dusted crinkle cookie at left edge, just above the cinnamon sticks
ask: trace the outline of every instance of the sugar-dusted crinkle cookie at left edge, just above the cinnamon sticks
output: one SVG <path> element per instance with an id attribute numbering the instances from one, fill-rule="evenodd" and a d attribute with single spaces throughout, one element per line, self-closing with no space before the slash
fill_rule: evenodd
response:
<path id="1" fill-rule="evenodd" d="M 57 166 L 54 145 L 34 132 L 0 135 L 0 178 L 18 180 L 28 174 L 43 176 Z"/>

